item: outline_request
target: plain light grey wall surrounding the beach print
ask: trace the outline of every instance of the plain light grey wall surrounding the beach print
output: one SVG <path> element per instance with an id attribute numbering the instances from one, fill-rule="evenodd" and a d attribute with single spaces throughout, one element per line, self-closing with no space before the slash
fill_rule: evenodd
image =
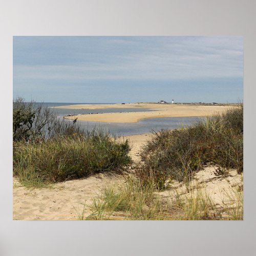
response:
<path id="1" fill-rule="evenodd" d="M 0 255 L 254 255 L 256 1 L 0 3 Z M 13 35 L 244 36 L 244 221 L 12 221 Z"/>

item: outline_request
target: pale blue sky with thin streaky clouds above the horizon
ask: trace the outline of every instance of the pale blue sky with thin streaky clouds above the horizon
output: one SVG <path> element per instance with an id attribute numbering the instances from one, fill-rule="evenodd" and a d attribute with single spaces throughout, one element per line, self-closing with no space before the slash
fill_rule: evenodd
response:
<path id="1" fill-rule="evenodd" d="M 243 101 L 241 36 L 14 36 L 13 98 Z"/>

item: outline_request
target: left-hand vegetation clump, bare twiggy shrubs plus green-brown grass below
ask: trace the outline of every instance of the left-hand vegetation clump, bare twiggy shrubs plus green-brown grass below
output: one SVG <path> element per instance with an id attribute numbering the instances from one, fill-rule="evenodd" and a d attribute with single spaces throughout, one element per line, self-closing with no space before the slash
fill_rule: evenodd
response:
<path id="1" fill-rule="evenodd" d="M 13 109 L 13 175 L 26 186 L 45 186 L 131 163 L 128 141 L 103 131 L 84 131 L 53 112 L 18 99 Z"/>

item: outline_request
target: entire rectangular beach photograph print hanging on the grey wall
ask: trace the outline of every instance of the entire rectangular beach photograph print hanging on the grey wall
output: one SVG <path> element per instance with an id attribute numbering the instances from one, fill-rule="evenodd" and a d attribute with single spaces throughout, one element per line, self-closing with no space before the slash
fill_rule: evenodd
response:
<path id="1" fill-rule="evenodd" d="M 243 37 L 14 36 L 13 220 L 243 220 Z"/>

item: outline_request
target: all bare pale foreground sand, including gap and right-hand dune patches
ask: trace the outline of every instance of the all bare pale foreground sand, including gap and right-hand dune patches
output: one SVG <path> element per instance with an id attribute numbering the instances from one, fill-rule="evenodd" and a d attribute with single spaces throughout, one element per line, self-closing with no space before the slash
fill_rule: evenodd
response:
<path id="1" fill-rule="evenodd" d="M 124 137 L 129 139 L 132 145 L 130 155 L 135 162 L 140 160 L 140 148 L 151 136 L 151 134 L 142 134 Z M 229 175 L 223 178 L 216 176 L 215 170 L 214 166 L 201 170 L 190 185 L 202 187 L 217 207 L 222 207 L 223 203 L 232 204 L 227 193 L 233 193 L 233 189 L 242 186 L 243 175 L 232 169 Z M 13 220 L 77 220 L 78 212 L 81 213 L 83 210 L 83 204 L 92 203 L 92 198 L 99 195 L 101 188 L 109 184 L 120 185 L 122 182 L 124 182 L 122 175 L 98 174 L 86 179 L 60 182 L 52 188 L 28 189 L 14 178 Z M 187 193 L 185 184 L 175 181 L 168 190 L 157 194 L 172 200 L 177 189 L 184 196 L 195 193 L 194 190 L 191 190 L 190 194 Z M 87 216 L 90 212 L 84 214 Z"/>

